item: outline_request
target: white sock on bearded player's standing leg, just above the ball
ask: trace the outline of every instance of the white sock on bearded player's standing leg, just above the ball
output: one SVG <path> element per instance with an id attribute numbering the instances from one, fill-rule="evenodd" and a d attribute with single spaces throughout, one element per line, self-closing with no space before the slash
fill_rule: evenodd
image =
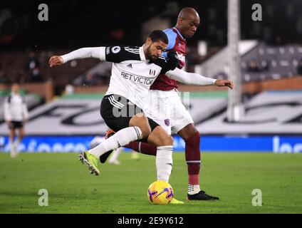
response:
<path id="1" fill-rule="evenodd" d="M 156 170 L 157 170 L 157 180 L 163 180 L 169 182 L 169 177 L 172 171 L 172 153 L 173 146 L 167 145 L 162 147 L 157 147 L 156 154 Z"/>

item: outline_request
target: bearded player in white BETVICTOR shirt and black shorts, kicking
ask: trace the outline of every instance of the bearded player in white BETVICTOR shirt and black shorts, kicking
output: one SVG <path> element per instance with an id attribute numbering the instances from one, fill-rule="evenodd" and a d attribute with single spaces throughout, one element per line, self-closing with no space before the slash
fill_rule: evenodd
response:
<path id="1" fill-rule="evenodd" d="M 110 150 L 123 147 L 135 140 L 145 140 L 157 148 L 157 180 L 169 182 L 172 170 L 173 139 L 158 123 L 143 112 L 150 86 L 160 73 L 188 85 L 206 86 L 220 83 L 232 88 L 231 81 L 219 81 L 177 68 L 179 59 L 175 52 L 162 56 L 167 48 L 167 35 L 152 31 L 145 44 L 80 48 L 63 56 L 52 56 L 50 66 L 61 65 L 78 58 L 98 58 L 113 62 L 110 85 L 100 105 L 100 115 L 106 125 L 116 133 L 100 145 L 80 154 L 80 160 L 93 175 L 99 175 L 98 159 Z M 177 202 L 177 199 L 173 199 Z M 172 202 L 173 203 L 173 202 Z"/>

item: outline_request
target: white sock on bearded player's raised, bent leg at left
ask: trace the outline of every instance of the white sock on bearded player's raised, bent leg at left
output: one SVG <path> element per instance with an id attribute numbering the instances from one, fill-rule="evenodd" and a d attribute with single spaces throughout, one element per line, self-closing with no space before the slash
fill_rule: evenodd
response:
<path id="1" fill-rule="evenodd" d="M 119 130 L 110 138 L 104 140 L 100 145 L 89 150 L 89 153 L 100 157 L 100 155 L 105 154 L 109 150 L 115 150 L 118 147 L 123 147 L 129 142 L 140 140 L 142 138 L 142 131 L 138 127 L 129 127 Z"/>

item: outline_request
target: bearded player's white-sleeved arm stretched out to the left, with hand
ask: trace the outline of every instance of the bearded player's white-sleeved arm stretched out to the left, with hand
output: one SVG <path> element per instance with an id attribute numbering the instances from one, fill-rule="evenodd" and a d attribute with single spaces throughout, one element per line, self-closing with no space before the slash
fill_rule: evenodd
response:
<path id="1" fill-rule="evenodd" d="M 68 61 L 80 58 L 98 58 L 100 59 L 100 52 L 103 51 L 105 47 L 97 48 L 80 48 L 78 50 L 67 53 L 63 56 L 51 56 L 49 59 L 49 66 L 58 66 Z"/>

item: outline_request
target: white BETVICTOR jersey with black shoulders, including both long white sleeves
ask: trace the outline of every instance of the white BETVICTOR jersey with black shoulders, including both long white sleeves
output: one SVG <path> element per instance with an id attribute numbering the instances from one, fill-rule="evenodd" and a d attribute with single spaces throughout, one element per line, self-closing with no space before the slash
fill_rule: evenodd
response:
<path id="1" fill-rule="evenodd" d="M 172 55 L 174 55 L 172 53 Z M 61 56 L 63 63 L 80 58 L 98 58 L 101 61 L 113 62 L 110 84 L 106 95 L 123 96 L 144 110 L 144 98 L 160 73 L 187 85 L 214 85 L 215 79 L 187 73 L 175 68 L 175 61 L 165 61 L 160 56 L 155 61 L 145 58 L 143 47 L 109 46 L 96 48 L 80 48 Z"/>

